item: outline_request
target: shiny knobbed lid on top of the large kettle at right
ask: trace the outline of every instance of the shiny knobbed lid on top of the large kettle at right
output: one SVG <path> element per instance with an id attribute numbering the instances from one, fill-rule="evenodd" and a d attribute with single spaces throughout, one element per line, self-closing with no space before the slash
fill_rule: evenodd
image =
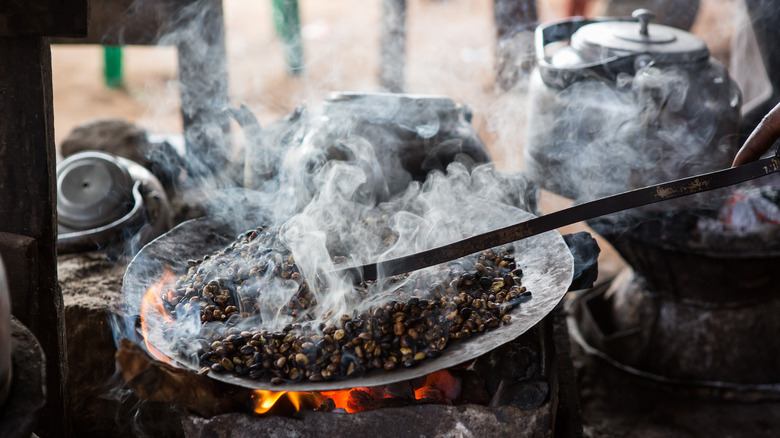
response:
<path id="1" fill-rule="evenodd" d="M 585 25 L 571 37 L 571 47 L 586 62 L 615 56 L 647 54 L 655 62 L 676 64 L 709 59 L 707 45 L 681 29 L 650 24 L 655 14 L 637 9 L 636 21 L 600 21 Z"/>

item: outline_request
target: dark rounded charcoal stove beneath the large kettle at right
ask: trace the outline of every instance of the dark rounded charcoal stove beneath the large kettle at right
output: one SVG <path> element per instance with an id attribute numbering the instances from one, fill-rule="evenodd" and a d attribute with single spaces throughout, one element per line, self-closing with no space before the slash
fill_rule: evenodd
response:
<path id="1" fill-rule="evenodd" d="M 701 229 L 711 211 L 593 221 L 630 265 L 572 302 L 589 351 L 654 380 L 776 396 L 776 227 Z"/>

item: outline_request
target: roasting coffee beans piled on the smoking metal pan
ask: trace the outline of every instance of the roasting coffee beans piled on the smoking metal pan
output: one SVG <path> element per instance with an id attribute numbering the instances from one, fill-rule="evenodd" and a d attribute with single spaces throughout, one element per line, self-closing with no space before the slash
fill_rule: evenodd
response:
<path id="1" fill-rule="evenodd" d="M 202 260 L 192 260 L 162 299 L 174 319 L 200 315 L 203 329 L 196 349 L 203 372 L 273 383 L 317 382 L 377 368 L 412 367 L 439 357 L 451 340 L 510 323 L 511 310 L 531 297 L 522 276 L 511 251 L 502 247 L 468 262 L 418 273 L 414 280 L 356 285 L 355 297 L 361 300 L 392 283 L 402 284 L 392 301 L 315 321 L 314 294 L 280 244 L 278 232 L 258 228 Z M 282 309 L 291 323 L 269 330 L 258 318 L 255 297 L 274 278 L 294 281 L 298 289 Z M 241 324 L 246 320 L 255 325 L 247 328 Z M 174 338 L 175 331 L 170 327 L 166 336 Z"/>

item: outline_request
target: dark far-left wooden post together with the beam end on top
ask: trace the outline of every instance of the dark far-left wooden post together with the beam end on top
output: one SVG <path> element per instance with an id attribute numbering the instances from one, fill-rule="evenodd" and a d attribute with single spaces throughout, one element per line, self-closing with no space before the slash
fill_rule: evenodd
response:
<path id="1" fill-rule="evenodd" d="M 45 36 L 86 33 L 87 2 L 8 0 L 0 7 L 0 254 L 12 312 L 46 355 L 36 430 L 69 435 L 62 291 L 57 284 L 51 52 Z"/>

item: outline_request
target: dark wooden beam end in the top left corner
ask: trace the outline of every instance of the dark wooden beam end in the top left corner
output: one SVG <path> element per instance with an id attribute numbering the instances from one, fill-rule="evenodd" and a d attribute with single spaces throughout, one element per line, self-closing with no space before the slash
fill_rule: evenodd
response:
<path id="1" fill-rule="evenodd" d="M 0 37 L 87 34 L 88 0 L 3 0 Z"/>

